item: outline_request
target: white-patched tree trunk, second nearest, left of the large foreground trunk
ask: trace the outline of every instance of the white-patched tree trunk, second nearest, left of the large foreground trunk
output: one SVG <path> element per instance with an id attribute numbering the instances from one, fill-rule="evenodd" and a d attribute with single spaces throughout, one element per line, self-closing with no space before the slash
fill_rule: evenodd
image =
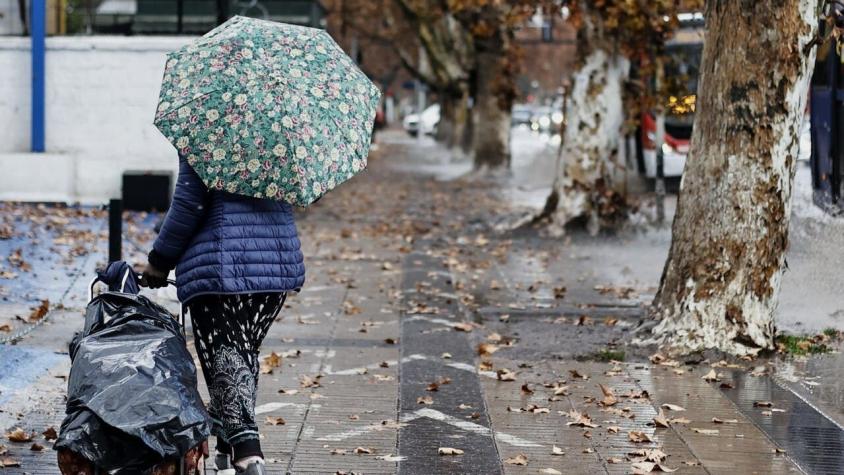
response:
<path id="1" fill-rule="evenodd" d="M 611 176 L 624 123 L 622 87 L 629 62 L 604 48 L 582 52 L 582 58 L 572 74 L 557 175 L 543 213 L 557 232 L 576 218 L 587 218 L 596 232 L 620 206 Z"/>

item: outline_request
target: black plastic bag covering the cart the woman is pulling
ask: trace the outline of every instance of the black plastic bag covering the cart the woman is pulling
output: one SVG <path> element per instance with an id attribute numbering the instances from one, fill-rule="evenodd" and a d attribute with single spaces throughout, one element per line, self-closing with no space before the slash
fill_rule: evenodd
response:
<path id="1" fill-rule="evenodd" d="M 110 290 L 88 304 L 70 344 L 67 416 L 54 448 L 111 473 L 143 473 L 202 443 L 211 423 L 179 322 L 130 293 L 138 285 L 127 264 L 99 278 Z"/>

